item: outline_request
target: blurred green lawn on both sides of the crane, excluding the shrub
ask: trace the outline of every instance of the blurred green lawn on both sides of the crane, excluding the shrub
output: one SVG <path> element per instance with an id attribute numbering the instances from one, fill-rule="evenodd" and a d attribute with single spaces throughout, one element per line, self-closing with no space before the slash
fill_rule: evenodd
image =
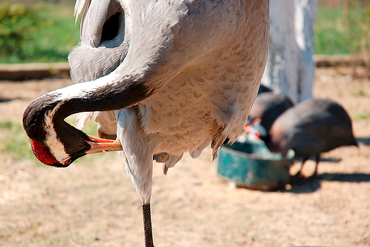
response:
<path id="1" fill-rule="evenodd" d="M 348 14 L 339 7 L 319 6 L 315 23 L 316 54 L 360 53 L 370 26 L 370 6 L 351 5 Z M 1 17 L 1 16 L 0 16 Z M 40 28 L 32 30 L 22 44 L 21 52 L 1 56 L 0 63 L 62 62 L 67 61 L 70 49 L 80 40 L 75 26 L 73 4 L 47 5 L 39 12 Z M 78 21 L 79 23 L 80 21 Z"/>

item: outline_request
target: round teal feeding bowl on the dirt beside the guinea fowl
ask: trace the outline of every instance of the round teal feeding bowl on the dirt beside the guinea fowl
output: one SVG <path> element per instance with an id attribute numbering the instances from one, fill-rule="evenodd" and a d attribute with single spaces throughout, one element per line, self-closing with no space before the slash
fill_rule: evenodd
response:
<path id="1" fill-rule="evenodd" d="M 218 152 L 217 173 L 237 186 L 273 191 L 289 182 L 294 151 L 287 155 L 270 152 L 263 141 L 226 144 Z"/>

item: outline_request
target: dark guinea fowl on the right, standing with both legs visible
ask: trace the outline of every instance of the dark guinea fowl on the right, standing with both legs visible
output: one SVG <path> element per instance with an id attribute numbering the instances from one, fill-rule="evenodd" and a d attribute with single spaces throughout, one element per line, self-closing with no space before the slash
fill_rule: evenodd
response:
<path id="1" fill-rule="evenodd" d="M 268 137 L 263 138 L 272 152 L 285 154 L 293 149 L 302 157 L 302 167 L 311 156 L 316 158 L 314 174 L 320 154 L 341 146 L 355 145 L 351 118 L 346 110 L 332 100 L 313 99 L 291 107 L 277 117 Z"/>

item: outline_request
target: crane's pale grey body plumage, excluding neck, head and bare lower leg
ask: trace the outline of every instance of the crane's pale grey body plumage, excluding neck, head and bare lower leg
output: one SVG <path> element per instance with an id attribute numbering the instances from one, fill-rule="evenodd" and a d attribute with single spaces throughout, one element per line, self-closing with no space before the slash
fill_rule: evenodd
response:
<path id="1" fill-rule="evenodd" d="M 76 15 L 83 2 L 76 2 Z M 115 111 L 115 118 L 112 112 L 97 112 L 95 118 L 105 131 L 117 132 L 127 173 L 146 204 L 153 154 L 170 154 L 166 172 L 184 152 L 198 157 L 210 143 L 216 157 L 226 138 L 235 141 L 243 129 L 267 58 L 268 0 L 86 4 L 82 42 L 69 56 L 73 81 L 104 75 L 120 80 L 117 67 L 126 73 L 150 72 L 146 85 L 154 94 Z M 122 11 L 119 32 L 113 40 L 100 42 L 102 23 L 117 8 Z M 79 121 L 89 116 L 81 115 Z"/>

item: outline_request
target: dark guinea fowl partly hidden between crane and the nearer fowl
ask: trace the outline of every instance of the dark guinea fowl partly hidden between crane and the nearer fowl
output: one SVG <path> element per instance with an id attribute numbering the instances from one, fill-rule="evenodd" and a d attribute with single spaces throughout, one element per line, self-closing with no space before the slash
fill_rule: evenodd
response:
<path id="1" fill-rule="evenodd" d="M 282 93 L 260 93 L 255 98 L 255 103 L 250 110 L 248 123 L 258 120 L 268 132 L 276 118 L 292 106 L 292 100 Z"/>

